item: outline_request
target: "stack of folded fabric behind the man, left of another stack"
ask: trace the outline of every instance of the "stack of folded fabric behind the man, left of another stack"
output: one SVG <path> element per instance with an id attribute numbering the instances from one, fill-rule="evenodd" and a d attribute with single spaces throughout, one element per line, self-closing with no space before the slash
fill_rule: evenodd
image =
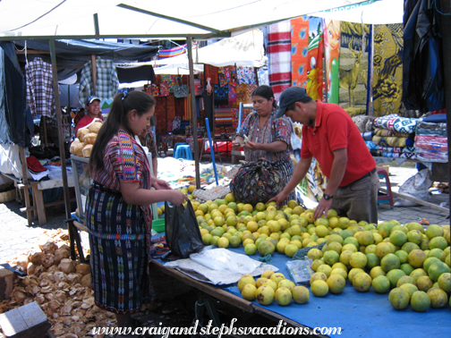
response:
<path id="1" fill-rule="evenodd" d="M 413 134 L 420 121 L 398 114 L 378 117 L 374 136 L 365 143 L 373 156 L 416 159 Z"/>

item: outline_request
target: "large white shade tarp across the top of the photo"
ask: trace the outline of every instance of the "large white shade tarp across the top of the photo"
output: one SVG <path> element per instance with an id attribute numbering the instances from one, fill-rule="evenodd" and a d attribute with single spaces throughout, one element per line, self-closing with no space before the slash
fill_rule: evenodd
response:
<path id="1" fill-rule="evenodd" d="M 226 37 L 357 3 L 362 0 L 3 0 L 0 38 Z"/>

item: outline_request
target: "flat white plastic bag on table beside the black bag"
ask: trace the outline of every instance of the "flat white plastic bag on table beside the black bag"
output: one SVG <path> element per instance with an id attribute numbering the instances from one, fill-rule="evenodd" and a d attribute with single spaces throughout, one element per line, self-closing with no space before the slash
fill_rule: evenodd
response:
<path id="1" fill-rule="evenodd" d="M 198 253 L 191 254 L 190 258 L 194 262 L 202 266 L 207 266 L 212 270 L 228 270 L 242 275 L 251 274 L 261 264 L 261 262 L 249 258 L 246 255 L 238 254 L 224 248 L 204 248 Z"/>

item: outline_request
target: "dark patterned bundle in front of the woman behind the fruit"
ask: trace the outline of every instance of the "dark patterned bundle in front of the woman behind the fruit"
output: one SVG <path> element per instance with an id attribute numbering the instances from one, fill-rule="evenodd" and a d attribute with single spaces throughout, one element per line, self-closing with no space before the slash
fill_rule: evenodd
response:
<path id="1" fill-rule="evenodd" d="M 230 183 L 235 199 L 252 205 L 268 202 L 284 188 L 280 165 L 265 159 L 242 165 Z"/>

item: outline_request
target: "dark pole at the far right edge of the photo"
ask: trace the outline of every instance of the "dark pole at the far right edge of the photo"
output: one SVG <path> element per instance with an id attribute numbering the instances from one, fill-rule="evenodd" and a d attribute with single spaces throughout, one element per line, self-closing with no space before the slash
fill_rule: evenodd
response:
<path id="1" fill-rule="evenodd" d="M 447 108 L 447 140 L 448 140 L 448 158 L 451 158 L 451 0 L 440 0 L 440 11 L 447 15 L 441 15 L 441 35 L 443 48 L 443 77 L 445 79 L 445 107 Z M 448 180 L 451 178 L 451 166 L 448 162 Z M 449 182 L 449 181 L 448 181 Z M 449 195 L 449 203 L 451 206 L 451 194 Z M 451 224 L 451 219 L 450 219 Z"/>

